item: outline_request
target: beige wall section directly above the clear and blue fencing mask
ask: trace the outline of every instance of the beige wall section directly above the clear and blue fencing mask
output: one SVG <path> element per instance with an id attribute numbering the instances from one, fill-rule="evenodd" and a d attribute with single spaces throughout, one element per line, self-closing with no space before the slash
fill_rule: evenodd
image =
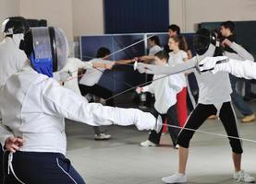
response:
<path id="1" fill-rule="evenodd" d="M 20 15 L 26 18 L 47 19 L 48 26 L 63 29 L 70 41 L 73 40 L 72 2 L 72 0 L 20 0 Z"/>

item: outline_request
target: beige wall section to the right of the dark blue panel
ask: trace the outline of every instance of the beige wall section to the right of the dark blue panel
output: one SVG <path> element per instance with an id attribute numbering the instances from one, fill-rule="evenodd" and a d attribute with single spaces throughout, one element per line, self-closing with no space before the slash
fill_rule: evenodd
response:
<path id="1" fill-rule="evenodd" d="M 196 24 L 226 20 L 256 20 L 255 0 L 169 0 L 170 23 L 191 32 Z M 181 15 L 180 15 L 181 14 Z"/>

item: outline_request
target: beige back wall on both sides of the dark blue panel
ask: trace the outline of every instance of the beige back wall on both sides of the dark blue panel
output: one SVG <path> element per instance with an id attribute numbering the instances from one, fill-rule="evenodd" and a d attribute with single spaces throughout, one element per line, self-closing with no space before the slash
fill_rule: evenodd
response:
<path id="1" fill-rule="evenodd" d="M 104 33 L 104 0 L 74 0 L 74 35 Z M 209 21 L 256 20 L 255 0 L 169 0 L 170 24 L 183 32 Z"/>

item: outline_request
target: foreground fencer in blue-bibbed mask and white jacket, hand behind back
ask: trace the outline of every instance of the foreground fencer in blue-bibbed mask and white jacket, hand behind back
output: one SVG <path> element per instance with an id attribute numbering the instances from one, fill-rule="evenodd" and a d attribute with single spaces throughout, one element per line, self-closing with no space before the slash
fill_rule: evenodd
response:
<path id="1" fill-rule="evenodd" d="M 151 113 L 88 103 L 60 86 L 52 76 L 67 63 L 67 37 L 61 29 L 30 29 L 20 48 L 29 60 L 0 88 L 0 141 L 6 149 L 4 183 L 84 183 L 66 157 L 65 118 L 93 126 L 162 128 L 161 119 L 156 120 Z"/>

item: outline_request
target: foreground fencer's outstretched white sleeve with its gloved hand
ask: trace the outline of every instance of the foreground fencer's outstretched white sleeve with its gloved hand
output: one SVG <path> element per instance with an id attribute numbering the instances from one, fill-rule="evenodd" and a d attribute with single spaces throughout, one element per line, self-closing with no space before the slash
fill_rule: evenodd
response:
<path id="1" fill-rule="evenodd" d="M 45 81 L 42 107 L 45 113 L 80 121 L 92 126 L 117 124 L 136 125 L 139 130 L 152 130 L 156 119 L 140 109 L 121 109 L 88 101 L 54 82 Z"/>

